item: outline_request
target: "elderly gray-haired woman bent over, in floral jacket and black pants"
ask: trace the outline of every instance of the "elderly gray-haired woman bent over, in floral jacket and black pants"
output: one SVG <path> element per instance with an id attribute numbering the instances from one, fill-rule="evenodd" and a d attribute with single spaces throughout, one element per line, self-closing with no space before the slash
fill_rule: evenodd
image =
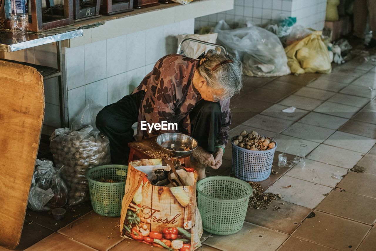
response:
<path id="1" fill-rule="evenodd" d="M 159 59 L 132 94 L 97 115 L 97 128 L 110 140 L 112 163 L 127 163 L 132 125 L 138 122 L 138 140 L 171 131 L 194 137 L 199 147 L 191 160 L 199 178 L 205 177 L 205 167 L 220 167 L 231 122 L 230 97 L 242 87 L 241 71 L 238 59 L 215 50 L 199 59 L 177 54 Z M 141 121 L 177 123 L 178 129 L 149 132 Z"/>

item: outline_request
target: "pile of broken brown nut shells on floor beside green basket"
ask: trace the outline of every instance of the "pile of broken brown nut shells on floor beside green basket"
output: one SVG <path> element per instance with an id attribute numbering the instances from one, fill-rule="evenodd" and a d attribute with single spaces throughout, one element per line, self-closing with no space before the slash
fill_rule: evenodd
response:
<path id="1" fill-rule="evenodd" d="M 262 188 L 261 184 L 257 182 L 248 181 L 248 183 L 251 185 L 253 189 L 253 193 L 250 196 L 250 200 L 248 204 L 250 208 L 255 208 L 255 209 L 262 208 L 264 210 L 267 210 L 268 205 L 270 205 L 270 203 L 273 200 L 278 199 L 278 198 L 283 199 L 283 197 L 278 193 L 262 193 L 264 189 Z M 273 210 L 275 209 L 276 208 L 274 208 Z"/>

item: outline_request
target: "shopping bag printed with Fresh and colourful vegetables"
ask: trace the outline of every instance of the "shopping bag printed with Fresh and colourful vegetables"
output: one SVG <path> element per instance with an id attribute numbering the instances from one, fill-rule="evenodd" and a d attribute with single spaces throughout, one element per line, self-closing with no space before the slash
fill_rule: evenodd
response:
<path id="1" fill-rule="evenodd" d="M 196 180 L 191 186 L 154 186 L 145 173 L 132 166 L 135 165 L 132 162 L 129 163 L 127 183 L 128 177 L 136 182 L 130 184 L 130 181 L 126 185 L 123 207 L 127 206 L 127 210 L 122 211 L 122 236 L 171 251 L 191 251 L 201 246 L 202 222 L 201 217 L 197 217 Z M 179 175 L 182 172 L 186 171 L 181 170 Z M 140 174 L 137 179 L 135 176 Z M 196 173 L 190 175 L 197 176 Z M 139 185 L 134 184 L 140 179 Z M 126 202 L 130 187 L 134 194 Z"/>

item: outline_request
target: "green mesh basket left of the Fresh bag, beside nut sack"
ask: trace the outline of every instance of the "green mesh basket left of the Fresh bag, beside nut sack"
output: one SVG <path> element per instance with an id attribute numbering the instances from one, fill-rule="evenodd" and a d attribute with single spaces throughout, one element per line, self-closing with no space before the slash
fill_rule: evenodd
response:
<path id="1" fill-rule="evenodd" d="M 124 196 L 128 166 L 103 165 L 86 171 L 90 201 L 93 210 L 102 216 L 118 217 Z M 100 178 L 111 179 L 114 183 L 100 182 Z"/>

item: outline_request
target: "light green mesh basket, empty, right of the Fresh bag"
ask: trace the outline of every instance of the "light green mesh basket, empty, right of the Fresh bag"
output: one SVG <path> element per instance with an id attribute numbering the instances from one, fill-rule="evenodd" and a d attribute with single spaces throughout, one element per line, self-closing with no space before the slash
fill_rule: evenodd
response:
<path id="1" fill-rule="evenodd" d="M 244 224 L 252 187 L 228 176 L 212 176 L 197 182 L 198 208 L 203 229 L 212 234 L 235 234 Z"/>

